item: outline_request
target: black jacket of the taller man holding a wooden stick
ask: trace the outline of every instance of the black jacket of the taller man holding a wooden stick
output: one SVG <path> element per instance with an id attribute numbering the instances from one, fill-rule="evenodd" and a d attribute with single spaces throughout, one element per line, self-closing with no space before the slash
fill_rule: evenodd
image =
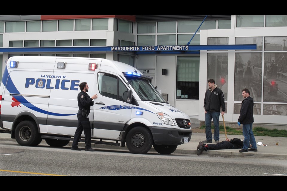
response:
<path id="1" fill-rule="evenodd" d="M 220 106 L 221 110 L 225 111 L 224 95 L 222 90 L 217 88 L 217 85 L 212 91 L 210 88 L 208 88 L 204 97 L 204 110 L 220 112 Z"/>

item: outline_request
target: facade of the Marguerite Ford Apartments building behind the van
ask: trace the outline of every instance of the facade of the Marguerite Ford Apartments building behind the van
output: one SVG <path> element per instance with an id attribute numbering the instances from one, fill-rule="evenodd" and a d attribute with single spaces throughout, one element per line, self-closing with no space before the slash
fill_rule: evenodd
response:
<path id="1" fill-rule="evenodd" d="M 204 122 L 204 94 L 207 80 L 213 78 L 225 95 L 225 123 L 237 124 L 241 90 L 246 87 L 254 98 L 254 123 L 286 129 L 286 40 L 284 15 L 0 16 L 0 69 L 11 56 L 124 62 L 153 77 L 157 90 L 193 123 Z M 211 49 L 212 45 L 245 44 L 256 44 L 257 49 Z M 172 50 L 200 45 L 207 48 Z M 147 51 L 119 48 L 132 46 Z"/>

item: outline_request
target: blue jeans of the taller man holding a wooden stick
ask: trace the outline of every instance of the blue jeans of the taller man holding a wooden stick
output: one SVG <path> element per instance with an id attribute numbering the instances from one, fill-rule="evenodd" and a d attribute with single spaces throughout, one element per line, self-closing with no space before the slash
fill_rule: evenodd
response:
<path id="1" fill-rule="evenodd" d="M 212 141 L 211 118 L 214 124 L 213 138 L 215 141 L 219 141 L 219 115 L 220 112 L 215 111 L 207 111 L 207 113 L 205 113 L 205 137 L 207 141 Z"/>

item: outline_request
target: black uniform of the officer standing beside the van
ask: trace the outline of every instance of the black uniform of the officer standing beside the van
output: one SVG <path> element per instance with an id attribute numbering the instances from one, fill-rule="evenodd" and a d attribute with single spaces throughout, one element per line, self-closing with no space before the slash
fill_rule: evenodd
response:
<path id="1" fill-rule="evenodd" d="M 91 110 L 91 106 L 94 105 L 94 101 L 88 96 L 86 92 L 83 90 L 78 94 L 78 106 L 79 106 L 79 111 L 77 113 L 78 117 L 78 127 L 74 135 L 74 141 L 72 144 L 72 149 L 78 147 L 78 142 L 80 140 L 81 134 L 84 130 L 85 134 L 85 143 L 86 143 L 86 149 L 91 148 L 91 125 L 90 125 L 90 120 L 88 118 L 88 115 Z M 83 110 L 87 110 L 87 114 L 82 117 Z"/>

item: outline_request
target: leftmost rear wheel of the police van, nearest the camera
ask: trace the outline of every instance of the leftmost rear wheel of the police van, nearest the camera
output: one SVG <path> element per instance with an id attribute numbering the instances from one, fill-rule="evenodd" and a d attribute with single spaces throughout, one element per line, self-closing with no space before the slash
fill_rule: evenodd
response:
<path id="1" fill-rule="evenodd" d="M 19 145 L 34 147 L 41 143 L 42 138 L 33 121 L 21 121 L 15 130 L 15 138 Z"/>

